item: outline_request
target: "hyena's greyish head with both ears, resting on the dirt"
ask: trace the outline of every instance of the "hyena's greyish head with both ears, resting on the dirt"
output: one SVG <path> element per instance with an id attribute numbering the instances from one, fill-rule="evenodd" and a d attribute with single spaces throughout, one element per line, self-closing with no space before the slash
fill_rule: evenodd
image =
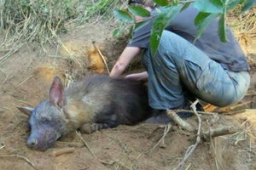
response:
<path id="1" fill-rule="evenodd" d="M 27 144 L 34 150 L 47 150 L 66 131 L 65 91 L 59 77 L 55 77 L 49 89 L 49 99 L 40 102 L 36 108 L 18 107 L 29 116 L 31 134 Z"/>

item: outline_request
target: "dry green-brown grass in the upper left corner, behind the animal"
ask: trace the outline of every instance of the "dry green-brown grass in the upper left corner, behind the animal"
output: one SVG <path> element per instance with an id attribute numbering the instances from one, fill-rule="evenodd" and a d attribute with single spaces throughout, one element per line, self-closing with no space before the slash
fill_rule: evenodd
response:
<path id="1" fill-rule="evenodd" d="M 67 28 L 89 22 L 92 17 L 113 15 L 118 0 L 2 0 L 0 31 L 5 35 L 0 46 L 0 62 L 24 44 L 38 42 L 62 44 L 58 35 Z M 103 17 L 104 16 L 104 17 Z"/>

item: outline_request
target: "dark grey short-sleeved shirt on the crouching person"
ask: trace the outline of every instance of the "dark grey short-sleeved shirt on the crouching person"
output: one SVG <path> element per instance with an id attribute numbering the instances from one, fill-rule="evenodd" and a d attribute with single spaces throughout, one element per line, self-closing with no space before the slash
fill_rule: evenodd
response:
<path id="1" fill-rule="evenodd" d="M 159 8 L 161 9 L 161 8 Z M 158 14 L 154 9 L 151 12 L 152 15 Z M 232 34 L 230 27 L 227 26 L 226 36 L 228 42 L 221 42 L 218 37 L 218 21 L 219 18 L 212 20 L 203 31 L 201 37 L 195 41 L 196 26 L 195 17 L 198 11 L 189 7 L 183 10 L 183 12 L 176 15 L 176 17 L 166 26 L 167 31 L 172 31 L 180 37 L 183 37 L 187 41 L 193 43 L 195 47 L 201 49 L 208 57 L 220 63 L 224 69 L 230 71 L 248 71 L 249 65 L 245 54 L 243 53 L 239 42 Z M 141 47 L 148 48 L 150 42 L 150 29 L 154 20 L 151 20 L 148 25 L 143 26 L 140 30 L 134 33 L 134 37 L 129 43 L 129 47 Z"/>

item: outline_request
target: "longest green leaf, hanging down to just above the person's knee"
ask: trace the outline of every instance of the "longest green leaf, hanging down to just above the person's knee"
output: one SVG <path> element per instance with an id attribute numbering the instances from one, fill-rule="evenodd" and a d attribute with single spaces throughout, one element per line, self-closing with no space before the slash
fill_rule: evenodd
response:
<path id="1" fill-rule="evenodd" d="M 153 54 L 155 54 L 157 51 L 164 29 L 181 10 L 181 8 L 181 5 L 177 5 L 172 8 L 165 8 L 156 18 L 156 20 L 154 20 L 150 36 L 150 47 Z"/>

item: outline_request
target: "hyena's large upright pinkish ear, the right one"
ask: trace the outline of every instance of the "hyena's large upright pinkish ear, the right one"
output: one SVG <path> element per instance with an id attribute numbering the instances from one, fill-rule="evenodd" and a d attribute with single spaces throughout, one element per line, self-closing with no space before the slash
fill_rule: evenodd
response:
<path id="1" fill-rule="evenodd" d="M 51 84 L 49 89 L 49 101 L 59 107 L 66 105 L 65 89 L 59 77 L 55 77 Z"/>

